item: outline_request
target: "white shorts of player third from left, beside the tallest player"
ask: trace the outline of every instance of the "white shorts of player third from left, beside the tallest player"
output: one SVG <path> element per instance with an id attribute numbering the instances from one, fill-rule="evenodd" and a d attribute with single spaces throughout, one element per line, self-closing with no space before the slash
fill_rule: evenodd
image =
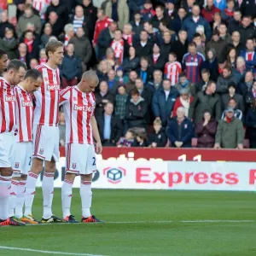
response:
<path id="1" fill-rule="evenodd" d="M 26 174 L 31 170 L 33 143 L 15 143 L 14 172 Z"/>

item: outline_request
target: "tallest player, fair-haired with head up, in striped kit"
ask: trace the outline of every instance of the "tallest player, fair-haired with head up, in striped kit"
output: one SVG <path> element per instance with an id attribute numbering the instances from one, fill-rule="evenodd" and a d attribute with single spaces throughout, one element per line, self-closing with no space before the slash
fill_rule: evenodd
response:
<path id="1" fill-rule="evenodd" d="M 25 216 L 32 218 L 32 202 L 36 192 L 38 175 L 43 171 L 42 183 L 44 198 L 44 213 L 42 222 L 62 222 L 61 218 L 53 215 L 51 207 L 54 193 L 55 162 L 59 160 L 59 98 L 60 98 L 60 71 L 64 58 L 63 44 L 51 40 L 45 46 L 48 57 L 46 64 L 35 67 L 43 75 L 41 89 L 34 93 L 36 108 L 33 122 L 33 160 L 32 170 L 26 181 Z"/>

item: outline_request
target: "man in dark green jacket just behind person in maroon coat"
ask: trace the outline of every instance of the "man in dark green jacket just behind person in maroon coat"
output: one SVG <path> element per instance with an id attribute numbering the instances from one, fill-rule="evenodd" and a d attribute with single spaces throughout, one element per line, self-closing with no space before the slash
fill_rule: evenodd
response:
<path id="1" fill-rule="evenodd" d="M 205 91 L 199 91 L 189 107 L 189 118 L 194 120 L 195 125 L 203 118 L 207 110 L 217 121 L 221 117 L 221 100 L 216 92 L 216 84 L 210 81 Z"/>

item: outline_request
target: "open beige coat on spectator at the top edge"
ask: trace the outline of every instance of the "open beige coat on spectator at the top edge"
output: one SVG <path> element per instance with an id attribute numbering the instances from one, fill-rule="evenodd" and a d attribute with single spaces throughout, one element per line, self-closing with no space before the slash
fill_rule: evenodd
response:
<path id="1" fill-rule="evenodd" d="M 130 20 L 130 12 L 128 8 L 128 4 L 126 0 L 118 0 L 117 2 L 117 13 L 119 17 L 119 29 L 123 30 L 124 25 L 129 23 Z M 106 15 L 108 17 L 112 17 L 112 1 L 108 0 L 106 3 L 106 9 L 105 9 Z"/>

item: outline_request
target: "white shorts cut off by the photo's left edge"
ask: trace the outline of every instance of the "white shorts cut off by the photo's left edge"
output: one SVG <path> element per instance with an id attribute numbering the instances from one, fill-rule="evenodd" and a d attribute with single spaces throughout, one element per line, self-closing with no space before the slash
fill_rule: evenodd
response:
<path id="1" fill-rule="evenodd" d="M 15 135 L 12 132 L 0 133 L 0 168 L 12 167 L 15 156 Z"/>

